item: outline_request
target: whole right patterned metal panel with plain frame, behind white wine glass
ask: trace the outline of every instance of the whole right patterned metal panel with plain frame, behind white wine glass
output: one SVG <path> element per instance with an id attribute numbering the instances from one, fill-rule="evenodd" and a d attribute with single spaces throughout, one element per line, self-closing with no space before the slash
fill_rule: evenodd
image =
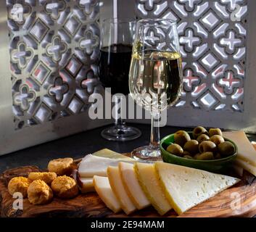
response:
<path id="1" fill-rule="evenodd" d="M 256 131 L 255 1 L 136 0 L 140 18 L 177 22 L 183 92 L 169 125 Z M 121 15 L 121 14 L 120 14 Z"/>

